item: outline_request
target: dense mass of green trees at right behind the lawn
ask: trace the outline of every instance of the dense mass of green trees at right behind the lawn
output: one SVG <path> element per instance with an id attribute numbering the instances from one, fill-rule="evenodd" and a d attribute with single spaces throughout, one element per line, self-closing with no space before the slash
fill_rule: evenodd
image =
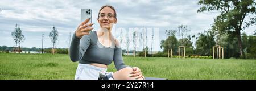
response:
<path id="1" fill-rule="evenodd" d="M 256 30 L 253 35 L 248 36 L 241 31 L 255 25 L 256 23 L 256 3 L 254 0 L 199 0 L 198 5 L 202 5 L 198 13 L 205 11 L 218 11 L 220 15 L 214 18 L 214 23 L 208 31 L 197 34 L 195 46 L 191 45 L 191 39 L 195 35 L 181 37 L 179 40 L 174 35 L 177 31 L 183 31 L 183 25 L 178 30 L 166 30 L 168 38 L 161 41 L 161 48 L 166 52 L 168 48 L 177 53 L 177 46 L 185 46 L 186 53 L 212 55 L 213 46 L 220 45 L 224 47 L 225 58 L 236 57 L 240 59 L 255 59 Z M 250 16 L 254 15 L 254 17 Z M 249 20 L 245 20 L 249 18 Z M 186 28 L 186 27 L 184 27 Z M 186 29 L 185 29 L 186 30 Z M 178 35 L 183 35 L 184 32 Z M 187 50 L 188 49 L 188 50 Z"/>

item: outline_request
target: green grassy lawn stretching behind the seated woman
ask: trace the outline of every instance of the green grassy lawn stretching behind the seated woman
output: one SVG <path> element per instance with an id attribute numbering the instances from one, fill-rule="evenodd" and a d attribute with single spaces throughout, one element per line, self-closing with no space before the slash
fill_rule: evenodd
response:
<path id="1" fill-rule="evenodd" d="M 172 79 L 256 79 L 256 60 L 123 57 L 145 77 Z M 68 55 L 0 53 L 0 79 L 73 79 L 78 63 Z M 110 64 L 108 71 L 116 71 Z"/>

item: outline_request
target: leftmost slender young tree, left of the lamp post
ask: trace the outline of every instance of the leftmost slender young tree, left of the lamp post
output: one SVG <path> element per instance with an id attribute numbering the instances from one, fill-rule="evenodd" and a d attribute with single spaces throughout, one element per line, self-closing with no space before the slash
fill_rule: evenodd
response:
<path id="1" fill-rule="evenodd" d="M 11 32 L 11 36 L 13 36 L 14 42 L 15 42 L 15 53 L 17 51 L 17 44 L 19 44 L 19 53 L 20 53 L 20 43 L 24 42 L 25 36 L 22 33 L 22 30 L 18 26 L 18 24 L 15 25 L 15 30 Z"/>

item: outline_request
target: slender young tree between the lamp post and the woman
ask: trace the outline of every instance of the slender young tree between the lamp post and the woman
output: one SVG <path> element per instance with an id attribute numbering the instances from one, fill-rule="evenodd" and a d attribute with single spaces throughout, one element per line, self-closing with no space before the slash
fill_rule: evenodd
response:
<path id="1" fill-rule="evenodd" d="M 58 40 L 59 33 L 55 26 L 52 27 L 52 31 L 49 34 L 49 37 L 51 38 L 51 42 L 53 44 L 52 46 L 52 54 L 55 54 L 55 48 L 56 48 L 56 42 Z"/>

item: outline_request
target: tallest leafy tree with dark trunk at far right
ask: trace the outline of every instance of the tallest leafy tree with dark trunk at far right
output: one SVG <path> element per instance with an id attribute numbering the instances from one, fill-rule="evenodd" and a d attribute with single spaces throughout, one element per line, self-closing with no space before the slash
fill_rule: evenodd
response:
<path id="1" fill-rule="evenodd" d="M 221 27 L 219 31 L 227 32 L 228 34 L 235 35 L 238 39 L 238 46 L 240 49 L 240 56 L 245 56 L 241 41 L 241 30 L 251 26 L 256 22 L 255 18 L 250 18 L 249 14 L 255 14 L 255 1 L 254 0 L 200 0 L 197 2 L 203 5 L 197 12 L 204 11 L 220 11 L 220 15 L 214 19 L 216 27 Z M 245 17 L 250 18 L 245 21 Z M 220 26 L 221 25 L 221 26 Z M 243 27 L 242 27 L 243 26 Z"/>

